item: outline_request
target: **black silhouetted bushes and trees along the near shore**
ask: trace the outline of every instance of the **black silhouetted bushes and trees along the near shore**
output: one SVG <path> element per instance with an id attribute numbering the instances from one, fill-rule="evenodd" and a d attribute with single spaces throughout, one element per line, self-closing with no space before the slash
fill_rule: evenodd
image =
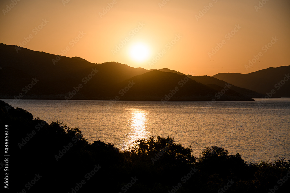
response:
<path id="1" fill-rule="evenodd" d="M 191 148 L 160 136 L 139 139 L 130 151 L 121 152 L 102 141 L 89 144 L 79 128 L 48 124 L 8 107 L 0 101 L 1 126 L 9 125 L 10 191 L 289 191 L 290 160 L 247 163 L 238 153 L 229 155 L 216 146 L 206 147 L 197 158 Z"/>

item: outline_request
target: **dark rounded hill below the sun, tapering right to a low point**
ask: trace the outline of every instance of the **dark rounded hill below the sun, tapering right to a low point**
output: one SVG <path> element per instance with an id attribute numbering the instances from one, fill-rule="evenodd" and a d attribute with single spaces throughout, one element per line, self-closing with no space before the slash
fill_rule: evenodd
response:
<path id="1" fill-rule="evenodd" d="M 134 84 L 130 84 L 133 82 Z M 130 84 L 131 88 L 122 91 Z M 132 77 L 118 84 L 110 96 L 121 100 L 171 100 L 171 101 L 211 101 L 215 100 L 252 100 L 240 93 L 216 97 L 217 91 L 187 76 L 172 72 L 153 70 Z M 120 91 L 121 90 L 121 91 Z M 168 97 L 166 97 L 166 95 Z"/>

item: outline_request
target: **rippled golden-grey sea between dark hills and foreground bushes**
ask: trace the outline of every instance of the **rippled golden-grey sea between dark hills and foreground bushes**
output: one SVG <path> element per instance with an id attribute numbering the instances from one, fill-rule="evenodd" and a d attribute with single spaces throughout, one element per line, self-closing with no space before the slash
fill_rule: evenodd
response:
<path id="1" fill-rule="evenodd" d="M 206 147 L 247 162 L 290 159 L 290 98 L 237 102 L 3 100 L 48 123 L 78 127 L 89 143 L 130 150 L 137 139 L 172 137 L 199 157 Z"/>

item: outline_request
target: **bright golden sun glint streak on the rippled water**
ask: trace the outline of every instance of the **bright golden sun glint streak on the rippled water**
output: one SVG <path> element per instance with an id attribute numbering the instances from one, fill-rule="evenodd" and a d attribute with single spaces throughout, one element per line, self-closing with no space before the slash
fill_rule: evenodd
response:
<path id="1" fill-rule="evenodd" d="M 131 148 L 137 139 L 147 138 L 147 112 L 141 109 L 130 109 L 129 132 L 126 141 L 127 148 Z"/>

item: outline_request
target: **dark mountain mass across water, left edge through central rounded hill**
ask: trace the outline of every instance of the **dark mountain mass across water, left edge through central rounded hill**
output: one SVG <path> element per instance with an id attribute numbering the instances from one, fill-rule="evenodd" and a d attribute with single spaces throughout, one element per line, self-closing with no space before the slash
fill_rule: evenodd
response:
<path id="1" fill-rule="evenodd" d="M 3 99 L 111 100 L 119 96 L 119 100 L 253 100 L 252 95 L 237 90 L 221 95 L 218 92 L 225 84 L 206 86 L 166 68 L 147 70 L 117 62 L 96 64 L 80 57 L 16 48 L 0 44 L 0 97 Z M 129 89 L 132 80 L 135 84 Z M 179 90 L 175 93 L 176 87 Z M 122 89 L 129 90 L 125 93 Z"/>

